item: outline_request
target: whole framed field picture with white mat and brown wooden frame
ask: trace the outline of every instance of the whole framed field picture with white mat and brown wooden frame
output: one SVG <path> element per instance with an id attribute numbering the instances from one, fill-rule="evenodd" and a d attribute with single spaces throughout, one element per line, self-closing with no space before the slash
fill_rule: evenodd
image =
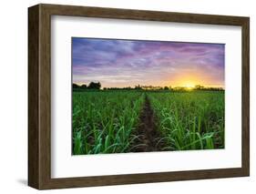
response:
<path id="1" fill-rule="evenodd" d="M 250 20 L 28 8 L 28 185 L 250 174 Z"/>

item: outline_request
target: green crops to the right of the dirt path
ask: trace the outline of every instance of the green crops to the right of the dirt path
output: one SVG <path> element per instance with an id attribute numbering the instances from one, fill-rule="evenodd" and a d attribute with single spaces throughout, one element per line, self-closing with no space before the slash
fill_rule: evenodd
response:
<path id="1" fill-rule="evenodd" d="M 224 148 L 224 93 L 185 92 L 148 95 L 165 150 Z"/>

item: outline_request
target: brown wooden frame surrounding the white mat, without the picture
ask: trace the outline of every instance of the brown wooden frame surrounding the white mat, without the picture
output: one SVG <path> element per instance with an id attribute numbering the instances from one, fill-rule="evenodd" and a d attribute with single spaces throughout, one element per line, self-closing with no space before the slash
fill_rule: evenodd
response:
<path id="1" fill-rule="evenodd" d="M 241 26 L 242 167 L 145 174 L 51 179 L 51 15 L 87 16 L 194 24 Z M 118 185 L 250 174 L 250 19 L 70 5 L 28 8 L 28 185 L 36 189 Z"/>

